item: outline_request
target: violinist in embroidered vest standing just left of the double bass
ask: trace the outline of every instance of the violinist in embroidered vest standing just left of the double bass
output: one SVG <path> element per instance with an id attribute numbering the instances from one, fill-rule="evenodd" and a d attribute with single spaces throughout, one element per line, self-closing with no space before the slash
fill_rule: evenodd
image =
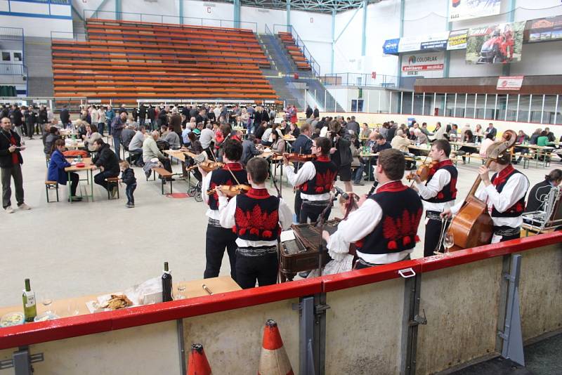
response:
<path id="1" fill-rule="evenodd" d="M 436 251 L 440 231 L 440 214 L 455 204 L 457 198 L 457 168 L 449 159 L 451 145 L 445 139 L 436 140 L 431 146 L 429 157 L 436 162 L 424 182 L 414 173 L 417 190 L 426 210 L 426 235 L 424 239 L 424 256 L 432 256 Z"/>

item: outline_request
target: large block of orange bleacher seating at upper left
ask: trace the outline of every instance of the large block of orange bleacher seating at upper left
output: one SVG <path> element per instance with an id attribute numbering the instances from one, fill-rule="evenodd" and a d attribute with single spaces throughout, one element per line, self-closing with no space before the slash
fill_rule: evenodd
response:
<path id="1" fill-rule="evenodd" d="M 251 30 L 89 19 L 86 32 L 52 41 L 55 96 L 277 99 Z"/>

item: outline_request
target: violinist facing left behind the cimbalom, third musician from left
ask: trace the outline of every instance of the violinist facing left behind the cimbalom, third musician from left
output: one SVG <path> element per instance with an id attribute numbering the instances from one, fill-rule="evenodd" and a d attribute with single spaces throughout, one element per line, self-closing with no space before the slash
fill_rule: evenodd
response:
<path id="1" fill-rule="evenodd" d="M 312 140 L 312 152 L 316 159 L 305 162 L 298 172 L 289 167 L 289 160 L 283 157 L 284 171 L 291 185 L 299 187 L 302 204 L 299 223 L 307 223 L 310 218 L 312 222 L 318 221 L 318 216 L 328 206 L 332 205 L 330 191 L 334 187 L 334 177 L 338 168 L 329 159 L 329 150 L 332 146 L 326 137 Z M 330 209 L 325 213 L 325 220 L 329 216 Z"/>

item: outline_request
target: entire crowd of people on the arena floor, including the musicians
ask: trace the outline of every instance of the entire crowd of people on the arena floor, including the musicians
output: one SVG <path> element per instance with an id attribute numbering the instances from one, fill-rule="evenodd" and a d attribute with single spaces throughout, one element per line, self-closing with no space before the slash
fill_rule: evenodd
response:
<path id="1" fill-rule="evenodd" d="M 180 110 L 164 106 L 159 108 L 158 113 L 166 113 L 166 116 L 157 117 L 158 127 L 154 129 L 152 121 L 139 121 L 142 119 L 139 115 L 141 108 L 135 108 L 131 111 L 133 114 L 129 114 L 126 108 L 121 107 L 107 125 L 113 138 L 113 150 L 104 141 L 100 117 L 92 116 L 93 113 L 99 114 L 96 111 L 100 108 L 90 106 L 84 109 L 73 129 L 84 140 L 84 152 L 91 156 L 93 169 L 100 171 L 94 176 L 94 182 L 110 195 L 115 195 L 117 185 L 112 178 L 120 176 L 126 185 L 126 206 L 131 208 L 135 205 L 133 192 L 136 189 L 135 171 L 131 166 L 143 167 L 147 177 L 154 166 L 171 171 L 169 158 L 162 151 L 180 147 L 196 154 L 188 159 L 188 166 L 199 165 L 204 159 L 221 161 L 223 166 L 219 169 L 207 171 L 199 166 L 194 171 L 200 180 L 204 201 L 209 206 L 204 277 L 218 276 L 226 250 L 231 276 L 242 288 L 254 287 L 256 282 L 259 286 L 276 282 L 276 244 L 280 231 L 289 228 L 293 221 L 304 224 L 321 218 L 327 220 L 334 191 L 338 191 L 334 187 L 338 176 L 347 194 L 353 197 L 351 180 L 354 185 L 363 185 L 362 179 L 372 181 L 373 185 L 369 194 L 356 197 L 355 209 L 346 212 L 346 219 L 339 224 L 336 232 L 332 235 L 322 233 L 332 261 L 341 261 L 342 257 L 348 256 L 350 244 L 356 247 L 355 268 L 410 258 L 420 240 L 417 232 L 424 211 L 424 256 L 433 255 L 434 251 L 442 249 L 442 244 L 438 243 L 442 218 L 459 212 L 464 202 L 457 199 L 459 173 L 450 159 L 450 140 L 478 143 L 475 137 L 482 136 L 481 152 L 485 152 L 485 157 L 496 145 L 497 130 L 493 124 L 484 130 L 477 127 L 472 131 L 470 126 L 464 126 L 459 131 L 458 126 L 442 127 L 438 123 L 436 129 L 429 132 L 425 123 L 421 126 L 416 122 L 410 126 L 399 126 L 388 121 L 379 129 L 370 129 L 367 124 L 360 125 L 354 117 L 320 117 L 318 110 L 308 108 L 308 118 L 301 126 L 296 126 L 292 119 L 293 108 L 289 106 L 280 119 L 277 119 L 276 113 L 272 119 L 273 112 L 256 108 L 253 120 L 257 118 L 259 121 L 247 123 L 250 126 L 246 127 L 247 134 L 244 134 L 234 126 L 239 125 L 239 117 L 247 115 L 247 108 L 242 108 L 240 114 L 228 112 L 224 116 L 219 107 L 217 121 L 217 107 L 190 108 L 186 116 L 186 108 Z M 65 121 L 70 121 L 67 112 L 65 108 L 61 111 L 59 126 L 51 119 L 43 128 L 39 127 L 39 131 L 44 132 L 47 178 L 63 185 L 70 182 L 70 199 L 78 202 L 79 178 L 77 173 L 65 172 L 70 164 L 65 154 L 65 140 L 59 134 Z M 143 112 L 148 113 L 148 110 Z M 263 117 L 264 112 L 267 117 Z M 256 113 L 261 115 L 256 117 Z M 106 113 L 106 121 L 107 117 Z M 2 117 L 0 122 L 3 207 L 8 213 L 14 211 L 11 207 L 11 180 L 14 181 L 18 208 L 30 209 L 24 202 L 22 187 L 20 151 L 25 145 L 13 118 L 12 113 Z M 234 121 L 229 122 L 230 119 Z M 520 131 L 518 143 L 549 144 L 555 140 L 549 129 L 537 129 L 535 133 L 533 139 L 533 136 L 526 137 Z M 287 135 L 292 136 L 290 145 L 285 141 Z M 412 143 L 431 144 L 429 157 L 434 164 L 426 180 L 422 181 L 414 173 L 414 184 L 407 187 L 401 180 L 406 169 L 412 167 L 406 160 L 410 155 L 408 146 Z M 119 157 L 120 147 L 129 151 L 125 160 Z M 289 183 L 294 186 L 293 210 L 280 196 L 270 195 L 265 187 L 270 166 L 266 158 L 259 157 L 265 147 L 282 155 L 282 168 Z M 290 164 L 289 148 L 297 157 L 313 157 Z M 482 148 L 485 150 L 482 151 Z M 362 157 L 365 154 L 370 159 Z M 530 182 L 523 173 L 514 169 L 516 162 L 511 160 L 510 152 L 504 152 L 490 166 L 478 169 L 483 186 L 476 192 L 476 197 L 487 202 L 490 209 L 494 224 L 492 242 L 518 238 L 525 206 L 532 209 L 540 207 L 536 199 L 530 197 L 528 202 L 525 200 Z M 367 163 L 371 168 L 365 168 Z M 561 181 L 562 171 L 555 169 L 532 190 L 555 187 Z M 226 185 L 240 184 L 250 186 L 246 194 L 232 197 L 223 192 Z M 342 202 L 344 205 L 351 200 L 346 199 Z"/>

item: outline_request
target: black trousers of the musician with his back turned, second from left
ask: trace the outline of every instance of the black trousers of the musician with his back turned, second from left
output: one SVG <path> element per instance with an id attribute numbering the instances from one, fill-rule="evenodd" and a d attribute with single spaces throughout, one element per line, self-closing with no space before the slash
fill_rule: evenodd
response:
<path id="1" fill-rule="evenodd" d="M 236 282 L 242 289 L 256 287 L 256 280 L 260 287 L 277 283 L 278 268 L 277 253 L 261 256 L 236 253 Z"/>

